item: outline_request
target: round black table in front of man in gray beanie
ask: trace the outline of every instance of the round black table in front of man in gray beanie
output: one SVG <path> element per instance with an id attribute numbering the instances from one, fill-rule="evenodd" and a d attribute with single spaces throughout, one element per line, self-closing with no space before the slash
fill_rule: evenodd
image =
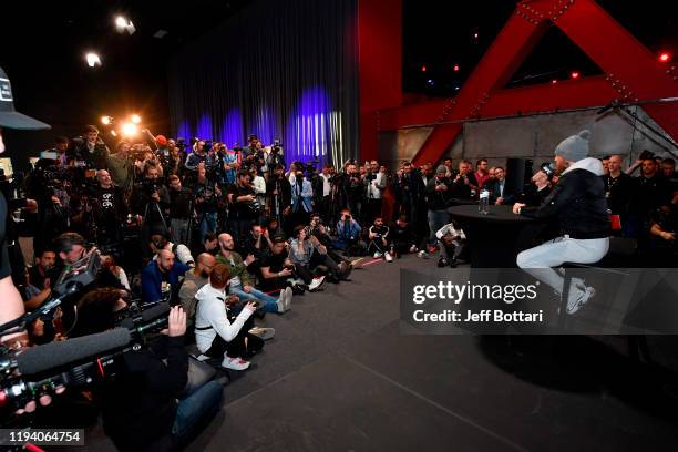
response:
<path id="1" fill-rule="evenodd" d="M 515 215 L 512 206 L 490 206 L 481 214 L 477 205 L 453 206 L 448 212 L 466 234 L 471 267 L 514 268 L 520 251 L 534 245 L 543 222 Z"/>

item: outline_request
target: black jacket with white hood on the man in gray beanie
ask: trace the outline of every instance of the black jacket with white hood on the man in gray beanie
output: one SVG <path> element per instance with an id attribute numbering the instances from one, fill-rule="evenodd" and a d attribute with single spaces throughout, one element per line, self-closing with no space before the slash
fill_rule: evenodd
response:
<path id="1" fill-rule="evenodd" d="M 587 157 L 563 172 L 551 194 L 538 207 L 525 206 L 521 215 L 556 217 L 562 235 L 572 238 L 605 238 L 610 235 L 604 174 L 599 160 Z"/>

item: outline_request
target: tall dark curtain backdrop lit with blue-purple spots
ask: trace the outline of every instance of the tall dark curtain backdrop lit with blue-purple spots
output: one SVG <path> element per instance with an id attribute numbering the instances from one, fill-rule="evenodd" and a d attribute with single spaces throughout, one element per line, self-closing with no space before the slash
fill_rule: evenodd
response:
<path id="1" fill-rule="evenodd" d="M 259 0 L 187 44 L 168 64 L 175 135 L 280 138 L 287 163 L 356 157 L 356 0 Z"/>

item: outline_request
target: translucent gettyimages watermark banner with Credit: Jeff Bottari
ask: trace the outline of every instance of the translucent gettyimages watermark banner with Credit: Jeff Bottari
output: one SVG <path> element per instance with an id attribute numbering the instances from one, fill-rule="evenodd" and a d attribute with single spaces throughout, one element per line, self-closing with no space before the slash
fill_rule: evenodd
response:
<path id="1" fill-rule="evenodd" d="M 566 269 L 561 277 L 554 288 L 517 268 L 402 269 L 401 331 L 678 333 L 676 269 Z M 582 287 L 589 296 L 573 304 Z"/>

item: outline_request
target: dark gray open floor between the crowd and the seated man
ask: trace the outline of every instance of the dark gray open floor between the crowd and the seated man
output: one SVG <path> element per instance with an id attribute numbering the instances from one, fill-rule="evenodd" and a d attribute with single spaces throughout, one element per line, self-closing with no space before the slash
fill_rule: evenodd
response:
<path id="1" fill-rule="evenodd" d="M 424 265 L 435 260 L 378 261 L 268 315 L 276 338 L 232 372 L 223 412 L 188 450 L 678 448 L 666 374 L 617 352 L 622 338 L 402 335 L 399 268 Z M 86 442 L 112 450 L 100 429 Z"/>

